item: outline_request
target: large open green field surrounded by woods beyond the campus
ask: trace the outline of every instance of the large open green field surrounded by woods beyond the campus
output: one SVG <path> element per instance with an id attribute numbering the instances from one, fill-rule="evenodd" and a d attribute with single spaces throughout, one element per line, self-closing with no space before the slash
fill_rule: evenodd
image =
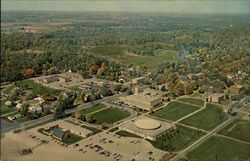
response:
<path id="1" fill-rule="evenodd" d="M 90 53 L 114 60 L 122 64 L 142 65 L 154 68 L 162 62 L 174 62 L 178 52 L 174 50 L 156 50 L 154 56 L 142 56 L 127 52 L 126 45 L 97 46 L 90 50 Z"/>

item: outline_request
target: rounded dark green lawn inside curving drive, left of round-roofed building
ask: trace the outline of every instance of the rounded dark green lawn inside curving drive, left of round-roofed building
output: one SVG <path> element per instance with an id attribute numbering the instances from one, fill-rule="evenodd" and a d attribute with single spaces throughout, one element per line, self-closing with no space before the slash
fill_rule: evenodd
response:
<path id="1" fill-rule="evenodd" d="M 94 113 L 92 116 L 93 119 L 96 120 L 94 124 L 102 124 L 102 123 L 111 124 L 116 121 L 122 120 L 128 117 L 129 115 L 130 113 L 128 111 L 122 111 L 117 108 L 108 108 L 100 112 Z"/>

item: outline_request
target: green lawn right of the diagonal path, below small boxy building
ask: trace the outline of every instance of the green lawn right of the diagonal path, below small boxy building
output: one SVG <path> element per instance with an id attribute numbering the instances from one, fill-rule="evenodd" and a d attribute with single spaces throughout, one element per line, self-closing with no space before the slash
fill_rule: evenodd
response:
<path id="1" fill-rule="evenodd" d="M 199 127 L 204 130 L 211 130 L 228 118 L 218 105 L 207 104 L 207 108 L 184 119 L 181 123 Z"/>

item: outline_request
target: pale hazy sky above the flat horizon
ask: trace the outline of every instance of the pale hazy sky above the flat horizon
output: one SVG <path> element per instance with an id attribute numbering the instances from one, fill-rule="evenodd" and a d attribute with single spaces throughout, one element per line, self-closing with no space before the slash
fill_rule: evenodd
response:
<path id="1" fill-rule="evenodd" d="M 1 0 L 2 11 L 250 14 L 248 0 Z"/>

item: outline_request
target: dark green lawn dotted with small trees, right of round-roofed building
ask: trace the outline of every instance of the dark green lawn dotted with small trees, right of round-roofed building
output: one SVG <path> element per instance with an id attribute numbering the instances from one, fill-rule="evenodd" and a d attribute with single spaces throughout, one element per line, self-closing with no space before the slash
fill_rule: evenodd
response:
<path id="1" fill-rule="evenodd" d="M 155 141 L 148 140 L 154 147 L 165 151 L 179 151 L 192 144 L 199 139 L 203 132 L 197 130 L 177 126 L 175 130 L 171 130 Z"/>

